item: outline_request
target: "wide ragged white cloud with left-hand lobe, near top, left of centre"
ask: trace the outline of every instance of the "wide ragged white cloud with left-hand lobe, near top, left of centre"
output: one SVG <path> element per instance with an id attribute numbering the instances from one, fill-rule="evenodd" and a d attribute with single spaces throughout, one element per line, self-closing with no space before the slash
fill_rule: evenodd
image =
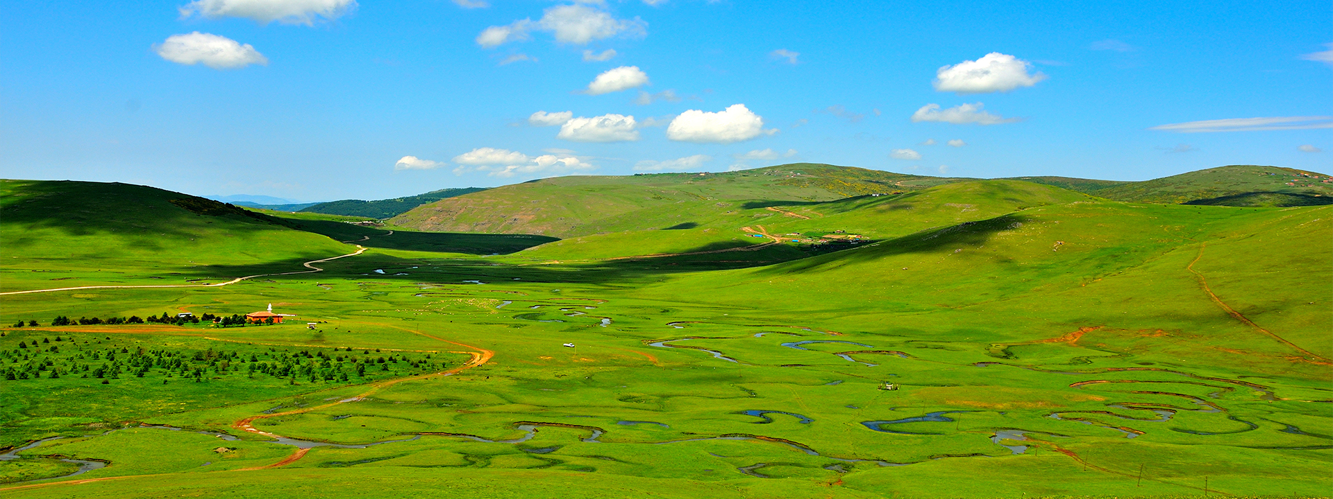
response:
<path id="1" fill-rule="evenodd" d="M 477 45 L 496 47 L 509 41 L 527 40 L 529 31 L 549 32 L 563 44 L 587 45 L 613 36 L 644 36 L 648 24 L 635 17 L 616 19 L 596 7 L 573 4 L 548 8 L 540 20 L 521 19 L 509 25 L 489 27 L 477 36 Z"/>

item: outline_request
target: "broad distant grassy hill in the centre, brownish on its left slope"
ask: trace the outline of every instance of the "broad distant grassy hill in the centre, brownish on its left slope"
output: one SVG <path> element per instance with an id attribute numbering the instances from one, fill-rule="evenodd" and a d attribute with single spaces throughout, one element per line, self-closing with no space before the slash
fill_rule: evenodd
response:
<path id="1" fill-rule="evenodd" d="M 726 173 L 557 177 L 448 198 L 397 216 L 425 232 L 597 233 L 694 228 L 746 209 L 745 201 L 832 201 L 960 181 L 794 164 Z"/>

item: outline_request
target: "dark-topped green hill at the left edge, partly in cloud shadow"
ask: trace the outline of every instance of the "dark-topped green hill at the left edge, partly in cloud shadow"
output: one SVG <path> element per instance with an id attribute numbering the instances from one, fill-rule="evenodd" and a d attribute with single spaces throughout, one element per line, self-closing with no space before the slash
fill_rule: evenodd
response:
<path id="1" fill-rule="evenodd" d="M 141 185 L 0 181 L 4 290 L 219 282 L 355 248 L 201 197 Z"/>

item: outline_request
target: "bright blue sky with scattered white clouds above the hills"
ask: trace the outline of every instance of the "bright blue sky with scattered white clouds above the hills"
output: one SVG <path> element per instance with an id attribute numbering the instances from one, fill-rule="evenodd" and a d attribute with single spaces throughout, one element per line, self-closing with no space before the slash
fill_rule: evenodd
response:
<path id="1" fill-rule="evenodd" d="M 8 3 L 0 33 L 8 178 L 325 201 L 793 161 L 1333 173 L 1328 1 Z"/>

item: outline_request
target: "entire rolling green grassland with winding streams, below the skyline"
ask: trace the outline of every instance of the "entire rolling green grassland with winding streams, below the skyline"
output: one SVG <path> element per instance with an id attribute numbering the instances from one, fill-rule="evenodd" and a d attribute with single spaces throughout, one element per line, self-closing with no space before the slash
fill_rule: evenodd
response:
<path id="1" fill-rule="evenodd" d="M 0 491 L 1329 496 L 1333 206 L 1126 185 L 784 165 L 353 225 L 5 181 Z"/>

